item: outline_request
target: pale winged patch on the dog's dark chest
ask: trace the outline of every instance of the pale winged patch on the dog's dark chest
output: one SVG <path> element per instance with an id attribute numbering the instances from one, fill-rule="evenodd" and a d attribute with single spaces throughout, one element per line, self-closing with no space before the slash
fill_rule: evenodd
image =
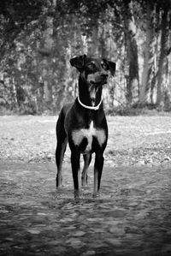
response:
<path id="1" fill-rule="evenodd" d="M 84 152 L 91 152 L 93 138 L 97 140 L 99 146 L 102 146 L 106 140 L 106 134 L 103 129 L 94 128 L 94 123 L 91 122 L 89 128 L 81 128 L 74 130 L 72 133 L 72 139 L 75 146 L 84 144 Z"/>

